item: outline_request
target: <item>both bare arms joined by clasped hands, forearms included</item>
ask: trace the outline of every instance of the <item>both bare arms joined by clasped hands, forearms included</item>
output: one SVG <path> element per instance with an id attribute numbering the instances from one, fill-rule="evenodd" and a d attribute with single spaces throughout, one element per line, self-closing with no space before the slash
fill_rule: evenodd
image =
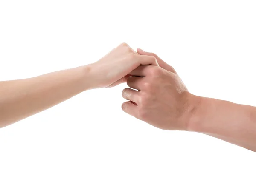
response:
<path id="1" fill-rule="evenodd" d="M 160 66 L 160 67 L 159 67 Z M 156 54 L 122 43 L 99 61 L 29 79 L 0 82 L 0 127 L 83 91 L 126 82 L 122 109 L 164 130 L 204 133 L 256 151 L 256 108 L 190 94 Z"/>

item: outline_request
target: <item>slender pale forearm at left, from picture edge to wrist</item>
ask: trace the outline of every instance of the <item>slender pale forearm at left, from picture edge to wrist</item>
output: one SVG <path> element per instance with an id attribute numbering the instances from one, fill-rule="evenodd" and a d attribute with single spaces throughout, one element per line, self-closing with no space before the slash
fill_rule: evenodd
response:
<path id="1" fill-rule="evenodd" d="M 0 82 L 0 127 L 44 111 L 92 88 L 89 66 Z"/>

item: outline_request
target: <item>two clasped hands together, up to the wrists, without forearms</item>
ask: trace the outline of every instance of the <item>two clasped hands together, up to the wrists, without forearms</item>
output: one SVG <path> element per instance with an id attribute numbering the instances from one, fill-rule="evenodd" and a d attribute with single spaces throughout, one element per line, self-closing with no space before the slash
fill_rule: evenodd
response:
<path id="1" fill-rule="evenodd" d="M 126 113 L 161 129 L 189 130 L 200 97 L 190 94 L 174 68 L 156 54 L 122 43 L 89 69 L 96 75 L 93 88 L 127 82 L 130 88 L 122 91 Z"/>

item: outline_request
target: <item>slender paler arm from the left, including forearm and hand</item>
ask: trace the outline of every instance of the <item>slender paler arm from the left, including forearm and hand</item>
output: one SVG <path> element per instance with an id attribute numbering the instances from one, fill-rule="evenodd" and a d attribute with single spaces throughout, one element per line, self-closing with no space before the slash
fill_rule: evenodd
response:
<path id="1" fill-rule="evenodd" d="M 140 65 L 159 66 L 155 57 L 140 55 L 122 43 L 90 65 L 0 82 L 0 127 L 44 111 L 83 91 L 126 82 L 129 73 Z"/>

